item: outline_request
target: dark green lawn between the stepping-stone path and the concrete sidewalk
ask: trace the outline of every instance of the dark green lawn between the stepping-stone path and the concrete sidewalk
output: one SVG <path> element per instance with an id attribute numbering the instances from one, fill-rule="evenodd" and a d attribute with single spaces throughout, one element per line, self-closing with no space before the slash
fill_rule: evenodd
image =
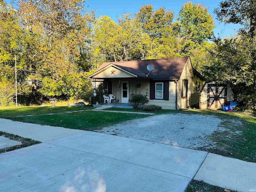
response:
<path id="1" fill-rule="evenodd" d="M 73 109 L 74 110 L 74 109 Z M 46 111 L 47 113 L 47 111 Z M 4 113 L 6 115 L 6 113 Z M 20 113 L 18 113 L 20 114 Z M 42 114 L 40 111 L 39 114 Z M 0 117 L 2 117 L 2 112 L 0 112 Z M 36 115 L 36 116 L 5 116 L 5 118 L 12 119 L 15 121 L 29 122 L 41 125 L 50 125 L 65 127 L 71 129 L 80 130 L 99 130 L 105 126 L 114 125 L 126 120 L 132 120 L 136 118 L 145 118 L 149 115 L 140 114 L 126 114 L 126 113 L 114 113 L 114 112 L 101 112 L 101 111 L 83 111 L 83 112 L 73 112 L 64 114 L 53 114 L 53 115 Z"/>

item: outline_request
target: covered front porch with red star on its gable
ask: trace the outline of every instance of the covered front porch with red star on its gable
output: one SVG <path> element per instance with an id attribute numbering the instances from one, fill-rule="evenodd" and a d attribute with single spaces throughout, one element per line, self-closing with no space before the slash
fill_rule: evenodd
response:
<path id="1" fill-rule="evenodd" d="M 92 79 L 94 90 L 102 84 L 103 94 L 99 97 L 104 101 L 103 95 L 114 95 L 116 106 L 118 104 L 129 104 L 132 96 L 139 93 L 147 94 L 150 89 L 150 78 L 144 73 L 114 64 L 109 64 L 89 77 Z M 120 107 L 122 106 L 120 105 Z"/>

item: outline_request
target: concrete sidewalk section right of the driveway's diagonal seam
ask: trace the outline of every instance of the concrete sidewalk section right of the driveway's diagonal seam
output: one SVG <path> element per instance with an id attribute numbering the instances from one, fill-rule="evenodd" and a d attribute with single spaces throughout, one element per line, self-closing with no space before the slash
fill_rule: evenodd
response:
<path id="1" fill-rule="evenodd" d="M 196 180 L 242 192 L 256 191 L 256 163 L 209 153 Z"/>

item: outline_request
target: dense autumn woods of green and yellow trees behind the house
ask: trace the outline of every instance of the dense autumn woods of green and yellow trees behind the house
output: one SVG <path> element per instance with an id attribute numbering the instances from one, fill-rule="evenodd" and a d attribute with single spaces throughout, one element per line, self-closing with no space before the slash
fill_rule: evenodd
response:
<path id="1" fill-rule="evenodd" d="M 96 18 L 84 0 L 0 0 L 0 106 L 13 105 L 15 55 L 18 102 L 50 97 L 87 98 L 87 76 L 102 62 L 190 56 L 208 80 L 229 83 L 242 109 L 256 109 L 256 0 L 225 0 L 218 20 L 241 24 L 235 36 L 214 36 L 202 4 L 186 2 L 174 12 L 152 5 L 137 13 Z M 164 6 L 164 5 L 163 5 Z M 132 16 L 134 15 L 134 16 Z M 175 21 L 174 21 L 175 20 Z"/>

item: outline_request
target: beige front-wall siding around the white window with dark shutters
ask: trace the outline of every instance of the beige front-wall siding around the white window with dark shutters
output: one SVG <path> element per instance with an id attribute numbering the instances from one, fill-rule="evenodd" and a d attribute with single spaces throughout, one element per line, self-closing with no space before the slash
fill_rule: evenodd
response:
<path id="1" fill-rule="evenodd" d="M 149 88 L 149 87 L 148 87 Z M 155 99 L 150 100 L 149 105 L 158 105 L 162 109 L 176 109 L 176 85 L 174 82 L 169 82 L 169 100 Z"/>

